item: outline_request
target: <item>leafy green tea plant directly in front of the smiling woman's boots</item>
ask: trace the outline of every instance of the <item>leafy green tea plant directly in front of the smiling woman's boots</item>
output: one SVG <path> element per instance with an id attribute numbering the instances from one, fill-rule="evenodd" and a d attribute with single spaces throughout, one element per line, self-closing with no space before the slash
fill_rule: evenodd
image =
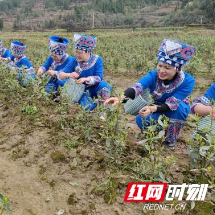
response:
<path id="1" fill-rule="evenodd" d="M 144 123 L 144 122 L 143 122 Z M 160 116 L 157 122 L 151 120 L 150 126 L 142 131 L 139 144 L 145 151 L 141 163 L 137 166 L 137 173 L 144 181 L 168 181 L 170 179 L 170 167 L 176 163 L 173 155 L 166 156 L 159 142 L 165 140 L 165 129 L 168 126 L 168 118 Z"/>

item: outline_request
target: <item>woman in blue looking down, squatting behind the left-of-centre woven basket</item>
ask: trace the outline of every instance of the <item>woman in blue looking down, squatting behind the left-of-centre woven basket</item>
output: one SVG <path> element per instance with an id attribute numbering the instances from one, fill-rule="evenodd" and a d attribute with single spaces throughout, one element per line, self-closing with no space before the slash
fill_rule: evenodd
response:
<path id="1" fill-rule="evenodd" d="M 85 110 L 93 110 L 97 104 L 93 98 L 100 97 L 100 104 L 109 98 L 112 88 L 103 81 L 103 60 L 92 53 L 96 47 L 97 38 L 82 34 L 74 35 L 76 58 L 71 65 L 71 73 L 60 71 L 59 79 L 74 78 L 77 84 L 85 84 L 85 92 L 79 100 Z"/>

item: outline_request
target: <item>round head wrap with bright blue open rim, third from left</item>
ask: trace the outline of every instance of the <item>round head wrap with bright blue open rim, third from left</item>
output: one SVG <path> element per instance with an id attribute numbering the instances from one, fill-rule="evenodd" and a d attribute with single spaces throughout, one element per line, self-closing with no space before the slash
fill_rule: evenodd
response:
<path id="1" fill-rule="evenodd" d="M 69 40 L 67 38 L 51 36 L 49 37 L 49 50 L 56 55 L 63 55 L 67 50 Z"/>

